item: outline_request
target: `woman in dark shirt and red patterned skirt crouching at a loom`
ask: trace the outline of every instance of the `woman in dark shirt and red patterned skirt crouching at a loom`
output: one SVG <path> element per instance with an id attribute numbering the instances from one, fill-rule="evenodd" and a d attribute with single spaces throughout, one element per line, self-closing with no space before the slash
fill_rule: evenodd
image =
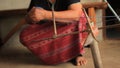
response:
<path id="1" fill-rule="evenodd" d="M 54 17 L 55 17 L 55 21 L 57 23 L 58 34 L 62 33 L 62 31 L 66 31 L 69 29 L 72 30 L 73 26 L 74 26 L 73 31 L 76 31 L 76 28 L 79 28 L 78 22 L 80 21 L 80 17 L 83 14 L 82 13 L 82 5 L 80 4 L 80 0 L 31 0 L 30 7 L 28 9 L 28 15 L 26 16 L 26 20 L 30 23 L 37 23 L 37 24 L 32 24 L 32 25 L 28 26 L 28 28 L 26 28 L 25 30 L 23 30 L 21 32 L 21 42 L 24 45 L 26 45 L 35 55 L 37 55 L 46 64 L 58 64 L 58 63 L 63 63 L 63 62 L 71 61 L 71 60 L 75 61 L 76 65 L 78 65 L 78 66 L 86 64 L 87 61 L 82 56 L 81 49 L 83 49 L 83 47 L 81 46 L 82 44 L 80 43 L 81 40 L 78 41 L 79 40 L 78 36 L 81 36 L 79 34 L 62 37 L 62 38 L 55 39 L 52 41 L 50 41 L 50 40 L 48 40 L 46 42 L 44 41 L 44 43 L 47 44 L 44 46 L 51 45 L 51 47 L 49 47 L 49 48 L 47 48 L 47 47 L 44 48 L 44 46 L 42 46 L 41 47 L 42 49 L 40 47 L 36 47 L 36 49 L 35 49 L 34 46 L 36 43 L 43 45 L 40 41 L 36 42 L 36 43 L 27 42 L 27 44 L 26 44 L 25 37 L 27 36 L 27 38 L 28 38 L 28 36 L 29 36 L 28 34 L 35 33 L 32 31 L 36 31 L 37 29 L 39 29 L 39 31 L 41 31 L 40 33 L 42 33 L 43 32 L 42 30 L 46 30 L 46 32 L 47 32 L 48 30 L 52 29 L 53 24 L 51 21 L 52 21 L 53 17 L 52 17 L 51 6 L 53 3 L 54 3 L 54 10 L 55 10 Z M 46 25 L 44 25 L 44 24 L 46 24 Z M 25 32 L 27 32 L 27 33 L 25 33 Z M 52 31 L 48 32 L 48 34 L 51 35 L 50 34 L 51 32 Z M 23 33 L 25 33 L 25 34 L 23 34 Z M 32 36 L 32 34 L 30 36 Z M 35 36 L 35 37 L 38 38 L 37 36 Z M 49 36 L 46 36 L 46 37 L 49 37 Z M 75 37 L 75 38 L 73 38 L 73 37 Z M 31 39 L 31 40 L 35 40 L 36 38 Z M 42 37 L 40 37 L 40 38 L 42 38 Z M 65 40 L 67 38 L 70 38 L 70 39 Z M 78 39 L 76 39 L 76 38 L 78 38 Z M 75 40 L 77 40 L 77 41 L 75 41 Z M 64 42 L 64 43 L 62 43 L 62 42 Z M 73 43 L 71 43 L 71 42 L 73 42 Z M 71 45 L 77 45 L 77 46 L 74 46 L 74 47 L 71 46 L 71 49 L 69 49 L 69 48 L 67 48 L 66 45 L 68 45 L 69 48 Z M 38 44 L 36 44 L 36 46 L 38 46 Z M 59 46 L 61 46 L 61 47 L 59 47 Z M 64 46 L 66 46 L 66 48 Z M 52 51 L 49 49 L 51 49 Z M 42 50 L 44 52 L 42 52 Z M 67 55 L 67 56 L 65 56 L 65 55 Z"/>

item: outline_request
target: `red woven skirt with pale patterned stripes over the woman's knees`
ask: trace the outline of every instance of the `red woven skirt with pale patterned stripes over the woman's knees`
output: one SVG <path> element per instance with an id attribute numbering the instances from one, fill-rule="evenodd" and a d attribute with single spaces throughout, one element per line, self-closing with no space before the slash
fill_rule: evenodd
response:
<path id="1" fill-rule="evenodd" d="M 79 22 L 67 25 L 57 24 L 57 33 L 66 34 L 85 30 L 86 22 L 83 14 Z M 43 40 L 53 37 L 53 35 L 53 23 L 32 24 L 21 31 L 20 42 L 45 64 L 67 62 L 83 53 L 83 43 L 87 37 L 87 32 Z"/>

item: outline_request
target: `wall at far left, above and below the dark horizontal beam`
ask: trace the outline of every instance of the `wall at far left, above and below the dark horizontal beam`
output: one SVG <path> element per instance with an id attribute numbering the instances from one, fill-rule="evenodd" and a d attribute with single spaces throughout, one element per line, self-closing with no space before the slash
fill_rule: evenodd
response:
<path id="1" fill-rule="evenodd" d="M 30 0 L 0 0 L 0 11 L 26 9 Z M 24 17 L 22 15 L 22 17 Z M 3 39 L 6 34 L 19 22 L 21 16 L 0 17 L 0 37 Z"/>

